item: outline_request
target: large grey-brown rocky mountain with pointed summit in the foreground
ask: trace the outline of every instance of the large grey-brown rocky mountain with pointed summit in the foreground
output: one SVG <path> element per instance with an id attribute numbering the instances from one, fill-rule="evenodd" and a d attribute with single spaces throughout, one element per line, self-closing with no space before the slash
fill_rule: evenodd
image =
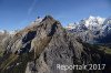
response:
<path id="1" fill-rule="evenodd" d="M 63 30 L 59 21 L 47 15 L 41 22 L 21 30 L 9 41 L 0 61 L 0 73 L 90 73 L 57 69 L 57 64 L 90 63 L 101 63 L 101 54 Z"/>

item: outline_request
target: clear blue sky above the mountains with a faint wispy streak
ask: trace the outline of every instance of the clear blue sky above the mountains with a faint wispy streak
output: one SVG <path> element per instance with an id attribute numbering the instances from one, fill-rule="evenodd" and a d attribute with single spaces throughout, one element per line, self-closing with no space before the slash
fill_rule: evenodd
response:
<path id="1" fill-rule="evenodd" d="M 22 29 L 51 14 L 62 25 L 89 15 L 111 17 L 111 0 L 0 0 L 0 30 Z"/>

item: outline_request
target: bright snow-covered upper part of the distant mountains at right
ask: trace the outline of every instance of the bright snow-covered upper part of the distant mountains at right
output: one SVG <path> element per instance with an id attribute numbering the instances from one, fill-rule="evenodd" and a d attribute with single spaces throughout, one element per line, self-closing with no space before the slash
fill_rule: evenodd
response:
<path id="1" fill-rule="evenodd" d="M 69 23 L 67 29 L 77 30 L 77 29 L 85 28 L 89 30 L 101 30 L 105 18 L 90 15 L 89 18 L 82 19 L 80 22 Z"/>

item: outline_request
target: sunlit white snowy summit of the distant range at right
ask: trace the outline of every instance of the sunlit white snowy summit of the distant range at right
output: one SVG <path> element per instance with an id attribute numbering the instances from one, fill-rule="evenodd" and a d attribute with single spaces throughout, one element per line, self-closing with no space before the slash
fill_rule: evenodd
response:
<path id="1" fill-rule="evenodd" d="M 88 28 L 90 30 L 93 30 L 93 27 L 101 28 L 101 25 L 103 24 L 104 20 L 105 20 L 105 18 L 90 15 L 87 19 L 82 19 L 80 22 L 69 23 L 67 29 L 70 30 L 70 29 L 74 29 L 77 25 L 84 24 L 85 28 Z"/>

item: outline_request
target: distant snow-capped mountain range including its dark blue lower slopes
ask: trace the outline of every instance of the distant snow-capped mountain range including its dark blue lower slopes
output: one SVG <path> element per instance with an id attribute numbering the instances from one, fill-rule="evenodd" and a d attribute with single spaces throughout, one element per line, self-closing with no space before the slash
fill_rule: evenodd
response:
<path id="1" fill-rule="evenodd" d="M 111 18 L 90 15 L 69 23 L 65 29 L 89 43 L 111 43 Z"/>

